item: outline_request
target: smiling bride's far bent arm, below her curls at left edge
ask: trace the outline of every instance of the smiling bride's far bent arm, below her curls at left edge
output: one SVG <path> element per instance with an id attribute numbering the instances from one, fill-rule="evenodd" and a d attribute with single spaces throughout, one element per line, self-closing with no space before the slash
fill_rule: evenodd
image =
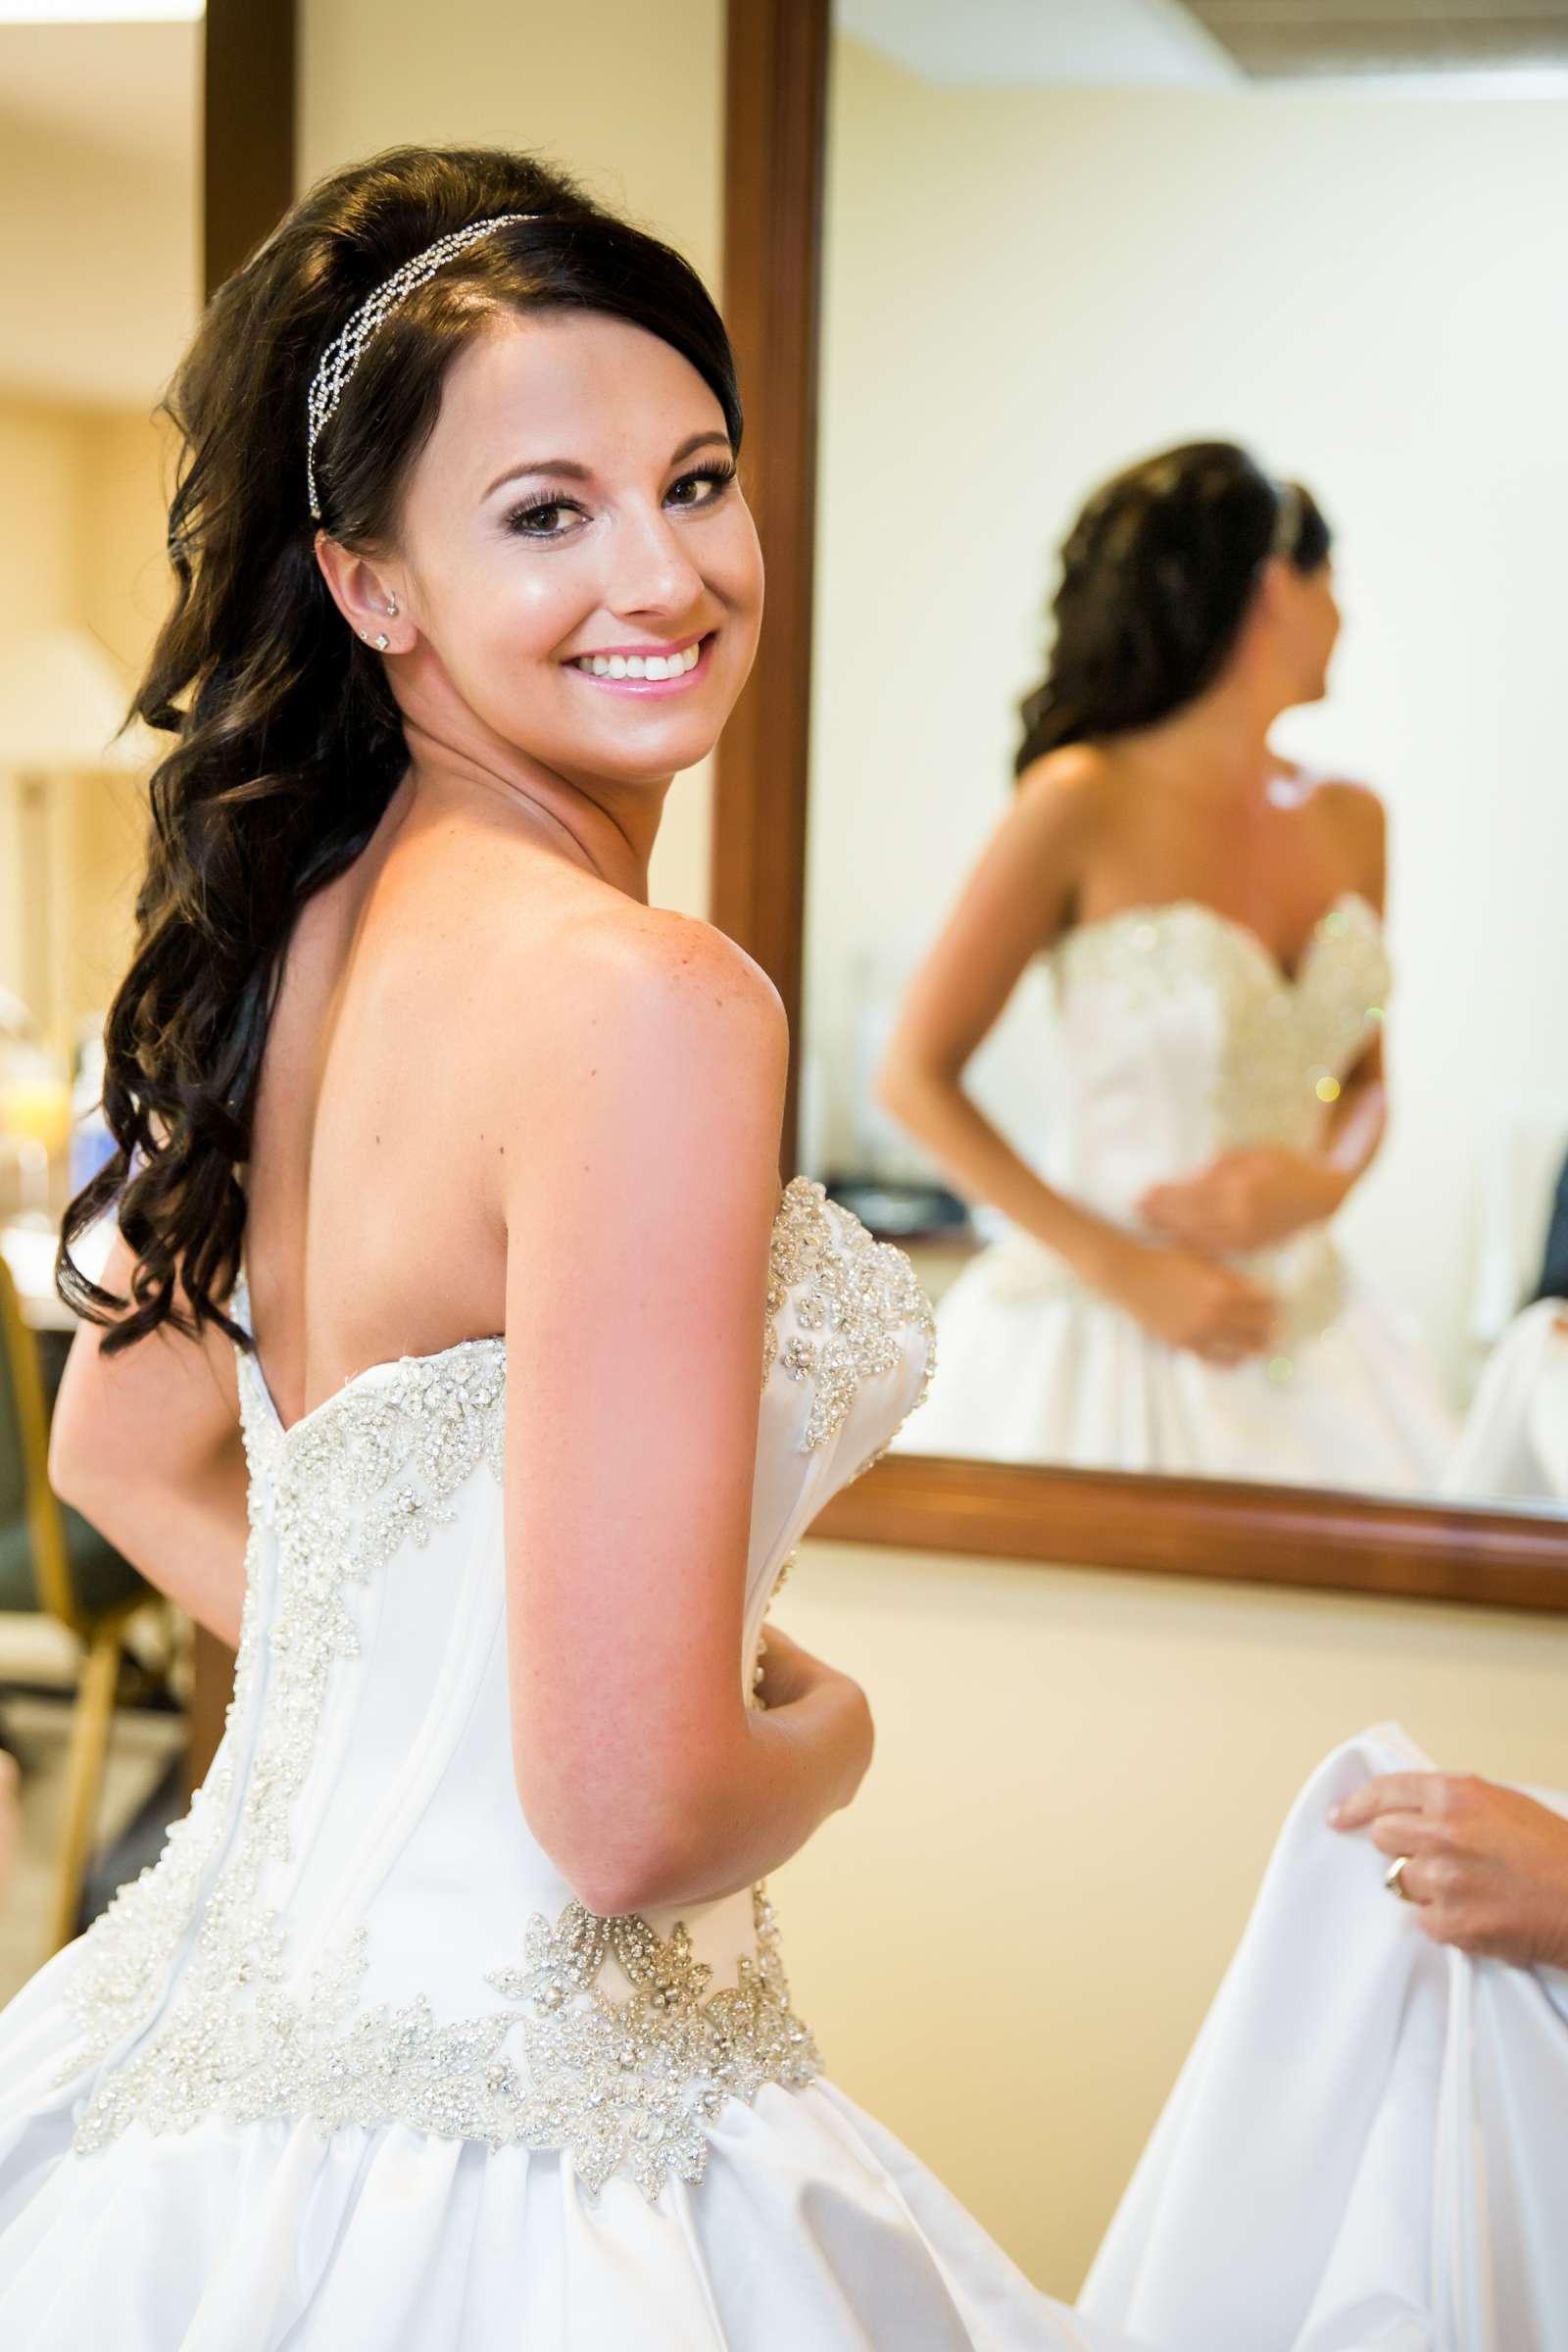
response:
<path id="1" fill-rule="evenodd" d="M 103 1289 L 125 1296 L 134 1263 L 115 1235 Z M 233 1343 L 212 1324 L 200 1338 L 165 1324 L 108 1357 L 99 1341 L 101 1324 L 85 1322 L 71 1343 L 49 1423 L 49 1484 L 233 1649 L 247 1543 Z"/>

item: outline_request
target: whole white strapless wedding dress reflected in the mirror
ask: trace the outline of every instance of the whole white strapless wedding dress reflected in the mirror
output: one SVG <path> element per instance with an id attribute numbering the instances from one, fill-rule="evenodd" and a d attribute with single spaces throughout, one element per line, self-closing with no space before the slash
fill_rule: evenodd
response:
<path id="1" fill-rule="evenodd" d="M 1225 1152 L 1312 1150 L 1378 1035 L 1382 927 L 1345 894 L 1293 976 L 1194 898 L 1079 924 L 1051 950 L 1058 1056 L 1048 1185 L 1138 1230 L 1157 1183 Z M 1415 1331 L 1328 1225 L 1234 1261 L 1281 1305 L 1269 1357 L 1168 1348 L 1011 1228 L 938 1305 L 940 1371 L 907 1454 L 1432 1489 L 1455 1428 Z"/>

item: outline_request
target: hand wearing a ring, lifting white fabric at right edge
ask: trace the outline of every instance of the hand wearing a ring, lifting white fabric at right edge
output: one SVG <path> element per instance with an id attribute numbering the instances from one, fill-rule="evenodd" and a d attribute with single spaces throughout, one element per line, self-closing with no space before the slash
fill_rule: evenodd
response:
<path id="1" fill-rule="evenodd" d="M 1568 1820 L 1472 1773 L 1389 1771 L 1331 1811 L 1406 1853 L 1401 1886 L 1434 1943 L 1568 1969 Z"/>

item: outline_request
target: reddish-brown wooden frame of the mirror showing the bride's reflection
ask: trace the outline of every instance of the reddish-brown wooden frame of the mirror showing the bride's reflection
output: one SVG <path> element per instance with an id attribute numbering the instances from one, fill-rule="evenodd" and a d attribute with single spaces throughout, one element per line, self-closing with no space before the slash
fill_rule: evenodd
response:
<path id="1" fill-rule="evenodd" d="M 797 1056 L 830 47 L 830 0 L 729 0 L 724 315 L 745 393 L 745 473 L 769 564 L 769 619 L 719 750 L 710 913 L 771 974 Z M 792 1082 L 785 1176 L 795 1174 L 795 1148 Z M 1239 1479 L 898 1454 L 830 1503 L 813 1534 L 905 1550 L 1568 1609 L 1568 1517 Z"/>

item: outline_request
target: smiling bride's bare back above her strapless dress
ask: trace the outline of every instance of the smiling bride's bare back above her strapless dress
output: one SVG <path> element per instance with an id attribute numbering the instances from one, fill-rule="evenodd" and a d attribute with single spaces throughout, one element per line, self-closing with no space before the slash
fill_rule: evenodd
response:
<path id="1" fill-rule="evenodd" d="M 244 1171 L 259 1357 L 284 1423 L 369 1364 L 503 1329 L 498 1070 L 527 1070 L 592 915 L 679 922 L 527 818 L 411 779 L 303 908 Z"/>

